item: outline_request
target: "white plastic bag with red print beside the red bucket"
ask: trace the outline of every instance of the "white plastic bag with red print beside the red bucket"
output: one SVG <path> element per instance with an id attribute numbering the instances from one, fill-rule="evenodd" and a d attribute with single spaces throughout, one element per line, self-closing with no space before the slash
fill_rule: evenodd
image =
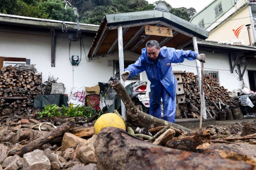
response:
<path id="1" fill-rule="evenodd" d="M 85 86 L 72 87 L 67 103 L 83 106 L 85 104 Z"/>

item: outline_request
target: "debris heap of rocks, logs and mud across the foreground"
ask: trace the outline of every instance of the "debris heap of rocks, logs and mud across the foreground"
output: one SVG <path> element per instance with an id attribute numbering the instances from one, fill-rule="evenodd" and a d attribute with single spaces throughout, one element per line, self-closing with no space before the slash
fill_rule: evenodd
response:
<path id="1" fill-rule="evenodd" d="M 81 120 L 75 117 L 9 121 L 14 128 L 0 126 L 1 166 L 47 170 L 253 170 L 256 167 L 250 156 L 219 144 L 235 143 L 236 139 L 216 140 L 209 129 L 192 133 L 183 126 L 148 115 L 133 104 L 119 81 L 111 85 L 126 108 L 123 119 L 126 132 L 107 127 L 95 135 L 93 120 L 82 120 L 83 127 L 77 127 L 75 124 Z M 239 139 L 256 139 L 256 134 Z"/>

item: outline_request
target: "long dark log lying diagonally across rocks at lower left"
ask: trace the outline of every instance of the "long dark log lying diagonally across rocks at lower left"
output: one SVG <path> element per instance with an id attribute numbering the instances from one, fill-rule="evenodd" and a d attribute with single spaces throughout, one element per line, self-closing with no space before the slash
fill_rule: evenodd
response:
<path id="1" fill-rule="evenodd" d="M 31 151 L 39 148 L 43 144 L 51 142 L 56 137 L 64 134 L 65 132 L 72 130 L 74 127 L 75 127 L 74 122 L 68 122 L 68 123 L 60 126 L 59 128 L 54 129 L 51 132 L 48 132 L 44 136 L 41 136 L 41 137 L 37 138 L 36 140 L 29 142 L 28 144 L 22 146 L 20 149 L 11 150 L 10 152 L 8 152 L 8 156 L 19 155 L 22 157 L 25 153 L 31 152 Z"/>

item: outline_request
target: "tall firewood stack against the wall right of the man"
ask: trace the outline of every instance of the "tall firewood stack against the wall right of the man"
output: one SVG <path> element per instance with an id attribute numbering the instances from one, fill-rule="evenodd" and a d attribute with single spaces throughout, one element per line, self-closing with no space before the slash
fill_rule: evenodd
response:
<path id="1" fill-rule="evenodd" d="M 200 117 L 200 92 L 197 75 L 188 72 L 182 75 L 186 103 L 188 109 L 181 109 L 183 118 Z M 203 79 L 203 91 L 207 118 L 218 118 L 219 111 L 229 111 L 230 108 L 238 107 L 233 102 L 224 86 L 220 86 L 216 78 L 206 75 Z"/>

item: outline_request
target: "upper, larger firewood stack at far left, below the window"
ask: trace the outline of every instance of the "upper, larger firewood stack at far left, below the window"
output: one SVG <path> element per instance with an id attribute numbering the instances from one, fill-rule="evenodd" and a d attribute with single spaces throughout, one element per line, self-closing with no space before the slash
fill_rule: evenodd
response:
<path id="1" fill-rule="evenodd" d="M 35 74 L 35 72 L 35 68 L 29 66 L 26 68 L 3 67 L 0 72 L 0 96 L 35 97 L 40 94 L 42 90 L 41 75 Z"/>

